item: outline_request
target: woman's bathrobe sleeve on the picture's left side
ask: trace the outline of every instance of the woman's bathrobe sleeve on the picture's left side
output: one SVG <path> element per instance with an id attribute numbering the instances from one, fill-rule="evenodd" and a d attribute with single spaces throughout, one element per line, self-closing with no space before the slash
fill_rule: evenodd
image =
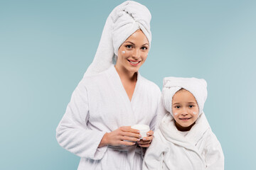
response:
<path id="1" fill-rule="evenodd" d="M 80 81 L 56 129 L 56 138 L 61 147 L 73 154 L 98 160 L 102 159 L 107 150 L 107 146 L 98 147 L 105 132 L 87 127 L 89 113 L 87 89 L 83 81 Z"/>

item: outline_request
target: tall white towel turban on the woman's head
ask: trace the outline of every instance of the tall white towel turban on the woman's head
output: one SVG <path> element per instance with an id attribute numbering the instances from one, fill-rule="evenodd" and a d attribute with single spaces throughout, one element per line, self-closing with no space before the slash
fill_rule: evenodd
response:
<path id="1" fill-rule="evenodd" d="M 150 21 L 149 9 L 135 1 L 124 1 L 115 7 L 107 18 L 95 58 L 85 72 L 85 76 L 108 69 L 113 64 L 119 47 L 138 29 L 146 35 L 150 47 Z"/>

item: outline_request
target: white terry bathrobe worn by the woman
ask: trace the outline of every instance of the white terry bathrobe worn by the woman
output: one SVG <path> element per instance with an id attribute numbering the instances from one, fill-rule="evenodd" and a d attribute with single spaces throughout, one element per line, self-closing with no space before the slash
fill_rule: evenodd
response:
<path id="1" fill-rule="evenodd" d="M 63 148 L 81 157 L 78 169 L 142 169 L 143 149 L 98 147 L 105 132 L 121 126 L 149 125 L 154 130 L 161 91 L 139 73 L 132 101 L 114 66 L 100 74 L 84 77 L 73 92 L 57 128 Z"/>

